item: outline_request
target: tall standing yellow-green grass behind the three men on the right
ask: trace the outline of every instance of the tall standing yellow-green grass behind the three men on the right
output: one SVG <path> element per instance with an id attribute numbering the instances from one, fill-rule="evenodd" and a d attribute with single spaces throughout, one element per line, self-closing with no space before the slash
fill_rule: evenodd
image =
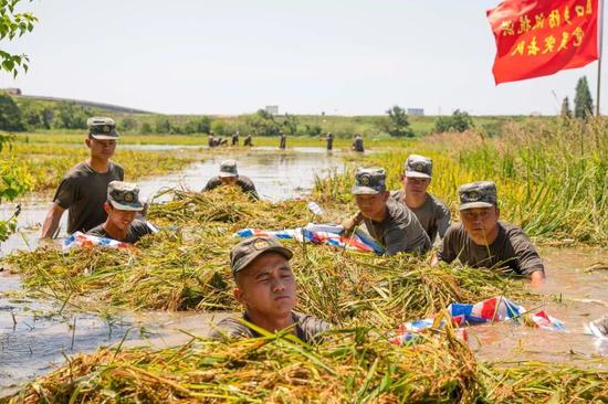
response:
<path id="1" fill-rule="evenodd" d="M 412 142 L 388 155 L 371 155 L 365 163 L 381 166 L 391 189 L 409 153 L 432 158 L 436 173 L 430 192 L 455 214 L 459 185 L 493 180 L 501 215 L 543 242 L 608 241 L 608 127 L 594 120 L 531 119 L 505 127 L 503 136 L 445 134 Z M 352 173 L 319 181 L 319 198 L 349 201 Z"/>

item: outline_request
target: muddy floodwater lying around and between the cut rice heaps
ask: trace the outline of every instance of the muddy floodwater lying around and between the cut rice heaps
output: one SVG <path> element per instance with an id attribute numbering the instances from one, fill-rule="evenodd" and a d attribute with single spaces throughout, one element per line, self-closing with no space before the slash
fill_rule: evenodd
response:
<path id="1" fill-rule="evenodd" d="M 198 190 L 216 174 L 220 161 L 235 158 L 217 155 L 186 170 L 141 181 L 141 194 L 148 198 L 164 187 L 182 185 Z M 282 200 L 311 190 L 314 176 L 342 170 L 339 156 L 323 149 L 277 153 L 258 149 L 239 155 L 239 170 L 251 177 L 262 198 Z M 39 225 L 48 202 L 24 203 L 20 216 L 21 233 L 2 245 L 2 254 L 35 248 Z M 4 206 L 2 215 L 10 211 Z M 66 215 L 65 215 L 66 216 Z M 63 220 L 65 221 L 65 216 Z M 63 225 L 64 226 L 64 225 Z M 608 263 L 602 248 L 541 247 L 547 268 L 547 283 L 539 289 L 541 304 L 521 301 L 527 309 L 538 306 L 564 322 L 567 332 L 534 329 L 515 323 L 494 323 L 469 329 L 469 343 L 478 358 L 516 363 L 523 360 L 576 363 L 596 355 L 608 355 L 608 340 L 585 333 L 585 323 L 608 313 L 608 270 L 588 272 L 596 263 Z M 73 312 L 50 301 L 11 297 L 20 290 L 18 276 L 0 274 L 0 397 L 14 392 L 33 378 L 48 373 L 77 352 L 93 352 L 103 345 L 124 344 L 166 348 L 187 342 L 182 332 L 205 334 L 226 313 L 138 312 L 102 318 Z M 396 325 L 397 326 L 397 325 Z"/>

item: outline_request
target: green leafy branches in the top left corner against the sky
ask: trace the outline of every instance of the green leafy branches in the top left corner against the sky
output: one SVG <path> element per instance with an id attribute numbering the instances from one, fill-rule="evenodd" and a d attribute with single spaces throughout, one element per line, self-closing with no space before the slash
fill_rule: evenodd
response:
<path id="1" fill-rule="evenodd" d="M 0 41 L 4 39 L 12 41 L 34 29 L 38 19 L 32 13 L 15 12 L 15 8 L 20 2 L 21 0 L 0 1 Z M 28 72 L 29 63 L 28 55 L 17 55 L 0 50 L 0 71 L 11 73 L 13 77 L 17 77 L 19 67 Z"/>

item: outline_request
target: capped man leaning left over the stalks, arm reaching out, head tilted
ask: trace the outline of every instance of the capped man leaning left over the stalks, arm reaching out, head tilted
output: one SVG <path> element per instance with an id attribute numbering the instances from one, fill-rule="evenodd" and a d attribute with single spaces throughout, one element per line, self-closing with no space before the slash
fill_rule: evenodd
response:
<path id="1" fill-rule="evenodd" d="M 345 233 L 349 234 L 365 222 L 369 234 L 385 247 L 387 255 L 427 252 L 431 247 L 429 236 L 407 206 L 390 199 L 385 180 L 381 168 L 355 171 L 353 194 L 359 213 L 342 224 Z"/>

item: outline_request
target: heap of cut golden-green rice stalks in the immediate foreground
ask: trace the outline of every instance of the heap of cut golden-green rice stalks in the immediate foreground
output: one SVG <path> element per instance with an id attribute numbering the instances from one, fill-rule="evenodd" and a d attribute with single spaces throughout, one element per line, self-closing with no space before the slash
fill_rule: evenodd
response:
<path id="1" fill-rule="evenodd" d="M 78 354 L 10 403 L 473 402 L 476 364 L 453 339 L 391 345 L 366 329 L 317 347 L 291 338 Z"/>

